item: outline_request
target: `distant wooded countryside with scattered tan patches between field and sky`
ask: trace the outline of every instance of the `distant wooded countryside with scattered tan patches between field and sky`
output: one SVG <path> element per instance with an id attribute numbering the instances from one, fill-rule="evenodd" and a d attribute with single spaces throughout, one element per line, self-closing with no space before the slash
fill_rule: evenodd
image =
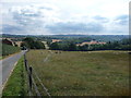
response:
<path id="1" fill-rule="evenodd" d="M 0 40 L 2 44 L 15 47 L 23 47 L 24 39 L 32 38 L 41 42 L 45 49 L 68 50 L 66 45 L 73 45 L 74 51 L 87 50 L 128 50 L 130 49 L 130 38 L 128 35 L 8 35 L 3 34 Z M 127 46 L 127 47 L 126 47 Z M 25 47 L 27 47 L 25 45 Z M 35 49 L 35 47 L 33 48 Z M 37 48 L 36 48 L 37 49 Z M 70 51 L 70 49 L 69 49 Z"/>

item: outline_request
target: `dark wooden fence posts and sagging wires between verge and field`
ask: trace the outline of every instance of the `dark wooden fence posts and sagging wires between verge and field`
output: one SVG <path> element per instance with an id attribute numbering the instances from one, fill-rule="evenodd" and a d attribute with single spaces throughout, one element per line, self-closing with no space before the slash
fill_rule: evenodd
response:
<path id="1" fill-rule="evenodd" d="M 40 93 L 39 93 L 39 90 L 38 90 L 38 87 L 37 87 L 37 85 L 36 85 L 36 83 L 35 83 L 35 79 L 34 79 L 34 77 L 33 77 L 33 74 L 34 74 L 35 77 L 38 79 L 40 86 L 43 87 L 43 89 L 44 89 L 45 93 L 47 94 L 47 96 L 48 96 L 49 98 L 51 98 L 48 89 L 47 89 L 47 88 L 45 87 L 45 85 L 41 83 L 41 79 L 38 77 L 38 75 L 37 75 L 37 73 L 35 72 L 35 70 L 34 70 L 32 66 L 28 66 L 27 60 L 26 60 L 26 52 L 24 53 L 24 64 L 25 64 L 25 70 L 26 70 L 26 72 L 27 72 L 27 77 L 28 77 L 28 87 L 29 87 L 29 88 L 28 88 L 28 95 L 29 95 L 29 96 L 33 96 L 33 90 L 35 90 L 35 93 L 36 93 L 37 96 L 39 96 L 39 97 L 41 96 Z M 33 89 L 33 87 L 34 87 L 35 89 Z"/>

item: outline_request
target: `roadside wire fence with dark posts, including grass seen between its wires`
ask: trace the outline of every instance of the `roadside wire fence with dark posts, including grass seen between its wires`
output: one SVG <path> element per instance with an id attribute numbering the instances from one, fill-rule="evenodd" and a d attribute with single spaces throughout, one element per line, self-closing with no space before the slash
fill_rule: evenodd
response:
<path id="1" fill-rule="evenodd" d="M 46 86 L 43 84 L 41 79 L 39 78 L 34 68 L 28 65 L 27 59 L 26 59 L 26 52 L 24 53 L 24 65 L 25 65 L 26 76 L 27 76 L 28 95 L 38 96 L 38 97 L 48 96 L 49 98 L 51 98 L 51 95 L 49 94 Z"/>

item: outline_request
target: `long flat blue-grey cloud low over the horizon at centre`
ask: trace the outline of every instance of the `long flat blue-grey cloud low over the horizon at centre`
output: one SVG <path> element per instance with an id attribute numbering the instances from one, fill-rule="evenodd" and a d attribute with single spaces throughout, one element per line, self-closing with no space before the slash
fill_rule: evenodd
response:
<path id="1" fill-rule="evenodd" d="M 48 28 L 52 33 L 95 33 L 102 32 L 104 29 L 103 25 L 97 23 L 57 23 L 55 25 L 47 25 Z"/>

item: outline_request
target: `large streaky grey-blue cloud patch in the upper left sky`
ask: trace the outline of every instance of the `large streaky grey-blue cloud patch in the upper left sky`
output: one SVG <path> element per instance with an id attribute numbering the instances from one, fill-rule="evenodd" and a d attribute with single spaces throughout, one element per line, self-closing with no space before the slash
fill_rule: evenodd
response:
<path id="1" fill-rule="evenodd" d="M 45 13 L 44 13 L 44 10 L 41 10 L 41 9 L 45 9 Z M 43 27 L 47 23 L 47 19 L 49 17 L 46 14 L 46 12 L 48 12 L 50 10 L 53 10 L 53 9 L 48 8 L 48 7 L 29 5 L 29 9 L 21 8 L 21 9 L 19 9 L 19 11 L 11 10 L 12 11 L 11 13 L 12 13 L 13 20 L 17 24 L 21 24 L 23 26 Z"/>

